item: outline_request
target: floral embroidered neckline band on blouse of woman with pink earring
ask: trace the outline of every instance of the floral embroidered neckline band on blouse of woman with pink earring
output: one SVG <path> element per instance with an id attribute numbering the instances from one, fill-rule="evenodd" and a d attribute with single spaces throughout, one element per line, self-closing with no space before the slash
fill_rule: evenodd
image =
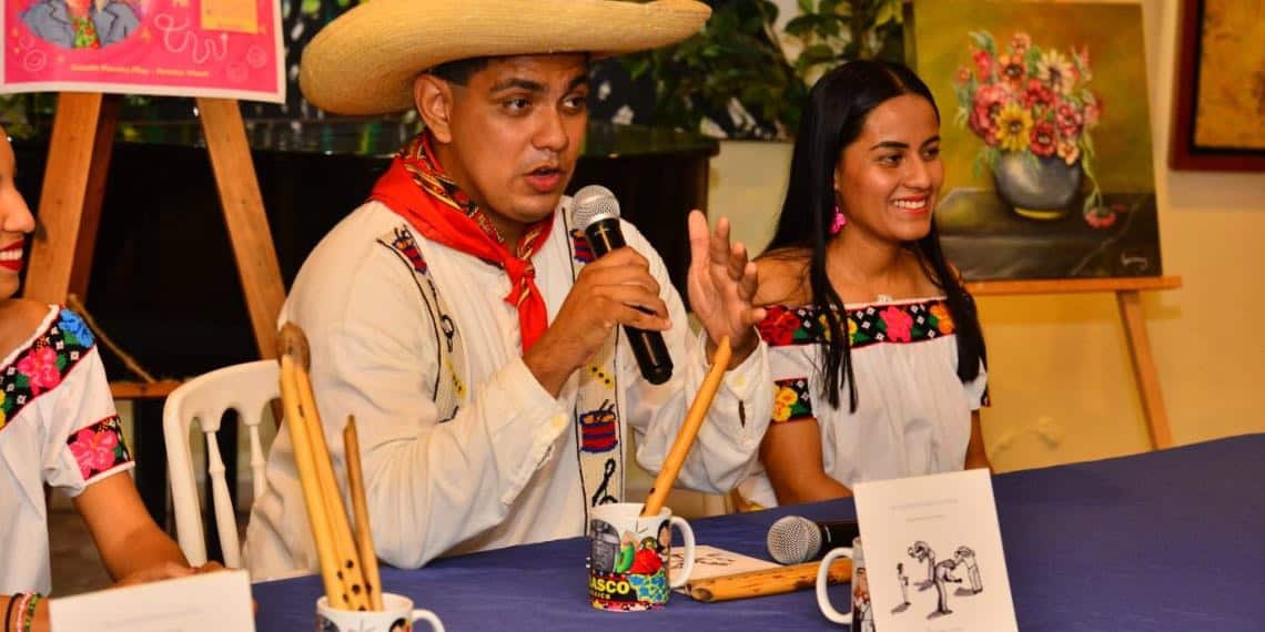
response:
<path id="1" fill-rule="evenodd" d="M 826 319 L 815 306 L 768 307 L 756 326 L 769 346 L 817 344 L 829 339 Z M 921 343 L 955 331 L 944 300 L 869 305 L 848 310 L 848 340 L 853 349 L 878 343 Z"/>

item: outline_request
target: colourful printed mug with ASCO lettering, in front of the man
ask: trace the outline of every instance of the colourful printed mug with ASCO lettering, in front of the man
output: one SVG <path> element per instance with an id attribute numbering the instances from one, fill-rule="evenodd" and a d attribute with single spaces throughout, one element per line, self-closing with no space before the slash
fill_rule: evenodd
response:
<path id="1" fill-rule="evenodd" d="M 588 521 L 588 600 L 600 611 L 654 611 L 668 603 L 694 570 L 694 531 L 664 507 L 641 517 L 641 503 L 593 507 Z M 686 560 L 668 578 L 672 527 L 681 530 Z"/>

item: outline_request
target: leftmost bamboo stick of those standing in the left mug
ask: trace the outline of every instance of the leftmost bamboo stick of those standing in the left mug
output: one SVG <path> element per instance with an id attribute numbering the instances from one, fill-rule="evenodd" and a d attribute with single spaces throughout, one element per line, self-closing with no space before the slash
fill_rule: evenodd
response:
<path id="1" fill-rule="evenodd" d="M 349 609 L 350 603 L 338 579 L 338 561 L 334 555 L 334 536 L 329 532 L 329 518 L 325 516 L 325 503 L 320 495 L 316 479 L 316 464 L 312 461 L 311 445 L 299 412 L 299 387 L 295 383 L 295 360 L 286 351 L 286 335 L 282 331 L 277 339 L 281 351 L 281 402 L 286 408 L 286 431 L 295 446 L 295 465 L 299 469 L 299 483 L 304 489 L 304 504 L 307 507 L 307 523 L 316 544 L 316 557 L 320 560 L 320 576 L 325 584 L 325 597 L 330 607 Z"/>

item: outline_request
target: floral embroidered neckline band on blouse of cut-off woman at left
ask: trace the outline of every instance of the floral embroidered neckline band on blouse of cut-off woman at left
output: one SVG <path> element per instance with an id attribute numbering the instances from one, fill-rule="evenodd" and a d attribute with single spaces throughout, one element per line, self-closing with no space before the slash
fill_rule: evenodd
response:
<path id="1" fill-rule="evenodd" d="M 35 397 L 57 388 L 92 348 L 92 332 L 75 312 L 62 310 L 48 330 L 0 368 L 0 428 Z"/>

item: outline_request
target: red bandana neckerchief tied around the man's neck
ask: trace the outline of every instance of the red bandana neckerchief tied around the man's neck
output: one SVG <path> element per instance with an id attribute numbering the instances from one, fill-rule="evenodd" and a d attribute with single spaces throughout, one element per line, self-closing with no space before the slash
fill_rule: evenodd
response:
<path id="1" fill-rule="evenodd" d="M 391 168 L 378 178 L 369 200 L 385 204 L 409 220 L 426 239 L 483 259 L 510 277 L 505 302 L 519 310 L 522 350 L 526 351 L 549 325 L 545 300 L 536 287 L 531 255 L 540 250 L 553 228 L 553 214 L 528 226 L 516 253 L 487 215 L 448 176 L 435 159 L 430 134 L 417 134 L 400 149 Z"/>

